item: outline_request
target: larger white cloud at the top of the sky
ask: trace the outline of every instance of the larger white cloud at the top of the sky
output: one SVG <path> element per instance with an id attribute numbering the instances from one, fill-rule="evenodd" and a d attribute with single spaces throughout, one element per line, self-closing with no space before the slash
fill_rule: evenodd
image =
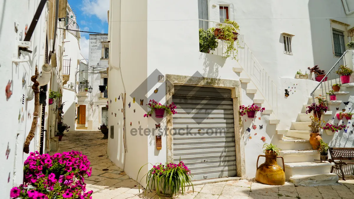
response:
<path id="1" fill-rule="evenodd" d="M 109 0 L 82 0 L 80 10 L 83 11 L 85 15 L 96 15 L 101 21 L 107 21 Z"/>

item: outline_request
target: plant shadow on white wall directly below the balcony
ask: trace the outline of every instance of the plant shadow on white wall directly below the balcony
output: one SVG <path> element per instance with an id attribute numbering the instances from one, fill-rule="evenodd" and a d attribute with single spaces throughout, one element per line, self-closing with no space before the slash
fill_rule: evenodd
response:
<path id="1" fill-rule="evenodd" d="M 226 62 L 226 59 L 219 55 L 213 55 L 209 53 L 200 53 L 199 59 L 204 59 L 203 76 L 207 78 L 220 78 L 219 68 L 222 68 Z"/>

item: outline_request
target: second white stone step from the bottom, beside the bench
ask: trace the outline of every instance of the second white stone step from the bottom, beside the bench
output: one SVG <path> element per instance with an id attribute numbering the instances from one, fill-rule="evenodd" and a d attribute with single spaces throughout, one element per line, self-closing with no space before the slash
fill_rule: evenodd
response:
<path id="1" fill-rule="evenodd" d="M 329 162 L 299 162 L 299 163 L 285 163 L 285 178 L 295 175 L 316 175 L 328 174 L 334 163 Z"/>

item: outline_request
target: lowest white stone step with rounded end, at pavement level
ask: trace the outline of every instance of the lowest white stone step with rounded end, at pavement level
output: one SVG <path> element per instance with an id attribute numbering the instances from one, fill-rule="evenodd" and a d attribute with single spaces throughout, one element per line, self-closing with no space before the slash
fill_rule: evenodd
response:
<path id="1" fill-rule="evenodd" d="M 290 182 L 302 186 L 329 185 L 338 182 L 337 174 L 294 175 L 289 177 Z"/>

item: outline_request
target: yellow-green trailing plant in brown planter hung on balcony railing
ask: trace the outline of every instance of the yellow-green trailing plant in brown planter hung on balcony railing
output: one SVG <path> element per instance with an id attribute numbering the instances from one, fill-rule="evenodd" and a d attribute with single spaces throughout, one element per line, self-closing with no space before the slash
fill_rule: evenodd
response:
<path id="1" fill-rule="evenodd" d="M 230 25 L 220 24 L 217 28 L 211 28 L 211 30 L 218 39 L 225 40 L 226 42 L 226 50 L 223 52 L 223 57 L 228 58 L 233 55 L 233 59 L 236 59 L 234 55 L 235 53 L 237 54 L 238 50 L 234 44 L 237 40 L 238 33 L 234 31 L 240 30 L 239 25 L 235 21 L 230 21 L 229 19 L 225 19 L 224 23 Z"/>

